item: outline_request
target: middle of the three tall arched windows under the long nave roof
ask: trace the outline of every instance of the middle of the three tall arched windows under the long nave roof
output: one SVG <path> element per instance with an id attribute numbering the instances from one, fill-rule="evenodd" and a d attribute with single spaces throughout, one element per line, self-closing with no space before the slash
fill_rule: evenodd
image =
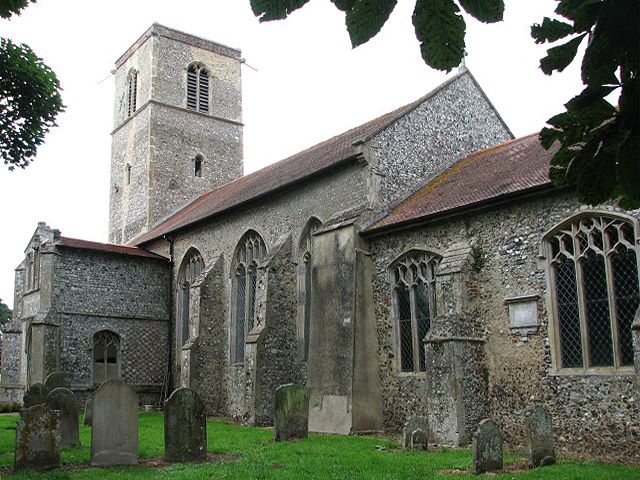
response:
<path id="1" fill-rule="evenodd" d="M 258 263 L 266 256 L 267 247 L 264 240 L 254 231 L 249 231 L 242 237 L 233 256 L 234 328 L 232 332 L 234 335 L 233 360 L 236 363 L 244 361 L 245 339 L 254 327 Z"/>

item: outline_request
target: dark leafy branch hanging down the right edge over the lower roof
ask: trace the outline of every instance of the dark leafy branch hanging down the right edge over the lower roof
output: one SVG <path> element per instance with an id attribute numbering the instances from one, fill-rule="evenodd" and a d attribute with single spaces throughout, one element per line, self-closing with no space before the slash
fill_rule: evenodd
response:
<path id="1" fill-rule="evenodd" d="M 575 187 L 582 202 L 640 207 L 639 12 L 638 0 L 559 0 L 556 14 L 567 21 L 545 18 L 531 28 L 537 43 L 564 41 L 540 61 L 547 75 L 564 70 L 586 43 L 585 89 L 540 133 L 545 148 L 559 144 L 551 179 Z M 617 108 L 605 99 L 613 93 Z"/>

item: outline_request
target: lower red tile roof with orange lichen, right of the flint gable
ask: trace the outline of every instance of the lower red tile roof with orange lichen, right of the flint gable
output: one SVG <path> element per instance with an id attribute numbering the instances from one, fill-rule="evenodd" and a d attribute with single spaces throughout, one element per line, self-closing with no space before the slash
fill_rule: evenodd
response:
<path id="1" fill-rule="evenodd" d="M 366 232 L 388 230 L 531 189 L 550 187 L 549 162 L 553 154 L 553 149 L 542 148 L 537 133 L 474 152 L 400 202 Z"/>

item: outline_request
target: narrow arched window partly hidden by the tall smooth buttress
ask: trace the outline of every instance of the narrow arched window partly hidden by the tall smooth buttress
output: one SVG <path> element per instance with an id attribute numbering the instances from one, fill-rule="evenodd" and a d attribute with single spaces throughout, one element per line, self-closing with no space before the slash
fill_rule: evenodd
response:
<path id="1" fill-rule="evenodd" d="M 311 327 L 311 297 L 313 294 L 311 276 L 311 237 L 322 223 L 317 218 L 309 219 L 300 236 L 298 255 L 298 325 L 299 337 L 302 340 L 302 359 L 309 359 L 309 331 Z"/>

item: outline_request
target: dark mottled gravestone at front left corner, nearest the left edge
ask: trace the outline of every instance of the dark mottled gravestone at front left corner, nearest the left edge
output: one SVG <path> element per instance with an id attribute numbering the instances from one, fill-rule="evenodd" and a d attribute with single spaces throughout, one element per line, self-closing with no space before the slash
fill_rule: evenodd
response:
<path id="1" fill-rule="evenodd" d="M 15 471 L 60 466 L 60 417 L 47 404 L 25 408 L 16 425 Z"/>

